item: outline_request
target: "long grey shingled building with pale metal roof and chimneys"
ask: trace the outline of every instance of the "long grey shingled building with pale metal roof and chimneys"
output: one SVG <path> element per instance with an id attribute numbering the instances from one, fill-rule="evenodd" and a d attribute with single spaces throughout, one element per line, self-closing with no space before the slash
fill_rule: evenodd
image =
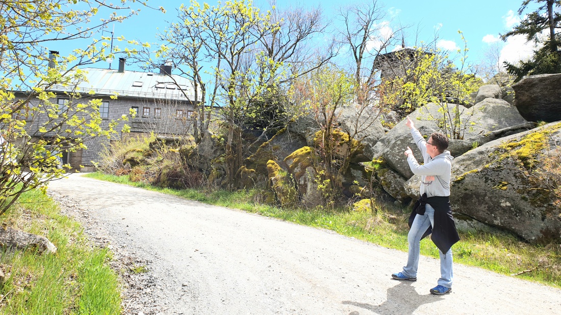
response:
<path id="1" fill-rule="evenodd" d="M 163 65 L 158 73 L 125 70 L 125 59 L 119 58 L 118 69 L 83 68 L 88 82 L 77 86 L 56 84 L 48 88 L 56 95 L 61 112 L 66 104 L 87 103 L 91 99 L 101 99 L 99 107 L 102 127 L 107 128 L 113 120 L 136 112 L 134 119 L 119 121 L 114 127 L 117 134 L 111 139 L 96 137 L 85 141 L 87 149 L 63 153 L 62 163 L 70 163 L 73 169 L 93 171 L 94 162 L 99 161 L 99 153 L 111 141 L 134 137 L 154 131 L 159 135 L 177 136 L 192 134 L 195 92 L 190 79 L 172 74 L 172 67 Z M 79 98 L 73 98 L 75 92 Z M 27 98 L 25 92 L 15 92 L 16 99 Z M 200 93 L 199 93 L 200 95 Z M 116 97 L 117 96 L 117 97 Z M 200 98 L 200 96 L 198 96 Z M 40 106 L 39 98 L 32 98 L 26 107 Z M 66 107 L 67 108 L 67 107 Z M 47 117 L 27 115 L 27 128 L 30 134 L 48 138 L 49 133 L 38 133 Z M 130 133 L 122 133 L 125 124 L 131 126 Z"/>

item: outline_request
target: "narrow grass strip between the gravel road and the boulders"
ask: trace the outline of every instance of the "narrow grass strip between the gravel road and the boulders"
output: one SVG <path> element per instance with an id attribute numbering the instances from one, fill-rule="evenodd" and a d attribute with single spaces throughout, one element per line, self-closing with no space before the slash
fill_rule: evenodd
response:
<path id="1" fill-rule="evenodd" d="M 255 191 L 197 191 L 174 190 L 153 187 L 142 182 L 131 182 L 128 176 L 89 173 L 85 175 L 99 180 L 142 187 L 207 204 L 228 206 L 279 218 L 298 224 L 330 229 L 378 245 L 407 251 L 407 218 L 410 209 L 379 205 L 378 214 L 358 211 L 287 210 L 251 202 Z M 454 261 L 482 267 L 500 274 L 518 275 L 518 278 L 539 281 L 561 287 L 561 245 L 530 245 L 509 233 L 465 232 L 461 241 L 453 247 Z M 428 239 L 421 241 L 421 254 L 438 258 L 438 248 Z M 550 266 L 550 267 L 546 267 Z"/>

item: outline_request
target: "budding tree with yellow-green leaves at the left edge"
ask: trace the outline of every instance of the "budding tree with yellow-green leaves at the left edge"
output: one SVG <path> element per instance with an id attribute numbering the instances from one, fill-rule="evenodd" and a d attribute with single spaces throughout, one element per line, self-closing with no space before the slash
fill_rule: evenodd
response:
<path id="1" fill-rule="evenodd" d="M 102 124 L 101 100 L 82 102 L 80 96 L 88 91 L 76 89 L 86 79 L 81 65 L 112 57 L 108 44 L 93 40 L 71 54 L 54 54 L 57 60 L 49 60 L 46 46 L 91 37 L 108 23 L 137 13 L 125 6 L 126 1 L 122 3 L 0 1 L 0 214 L 16 203 L 22 192 L 59 178 L 65 170 L 57 167 L 57 160 L 64 152 L 85 148 L 88 139 L 115 132 L 116 121 Z M 93 17 L 107 8 L 114 12 L 93 22 Z M 123 10 L 126 15 L 117 15 Z M 55 86 L 67 91 L 62 104 L 55 101 Z"/>

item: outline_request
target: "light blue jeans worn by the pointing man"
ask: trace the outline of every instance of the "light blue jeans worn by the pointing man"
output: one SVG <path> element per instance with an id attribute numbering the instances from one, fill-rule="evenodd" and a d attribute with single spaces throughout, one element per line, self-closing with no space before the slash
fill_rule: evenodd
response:
<path id="1" fill-rule="evenodd" d="M 434 227 L 434 208 L 429 204 L 425 206 L 425 214 L 417 214 L 409 234 L 407 241 L 409 242 L 409 257 L 407 258 L 407 266 L 403 267 L 403 274 L 414 278 L 417 276 L 417 269 L 419 269 L 419 253 L 421 236 L 426 232 L 429 226 Z M 440 253 L 440 279 L 438 284 L 446 288 L 452 288 L 452 248 L 448 250 L 446 255 L 442 251 Z"/>

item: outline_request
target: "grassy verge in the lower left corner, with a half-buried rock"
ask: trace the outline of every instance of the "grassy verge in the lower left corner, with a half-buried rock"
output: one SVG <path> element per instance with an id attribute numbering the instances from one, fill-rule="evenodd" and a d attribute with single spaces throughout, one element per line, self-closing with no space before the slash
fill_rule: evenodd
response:
<path id="1" fill-rule="evenodd" d="M 120 314 L 117 275 L 107 263 L 111 253 L 92 248 L 80 225 L 41 192 L 29 191 L 19 201 L 2 224 L 47 237 L 57 252 L 0 249 L 6 274 L 0 314 Z"/>

